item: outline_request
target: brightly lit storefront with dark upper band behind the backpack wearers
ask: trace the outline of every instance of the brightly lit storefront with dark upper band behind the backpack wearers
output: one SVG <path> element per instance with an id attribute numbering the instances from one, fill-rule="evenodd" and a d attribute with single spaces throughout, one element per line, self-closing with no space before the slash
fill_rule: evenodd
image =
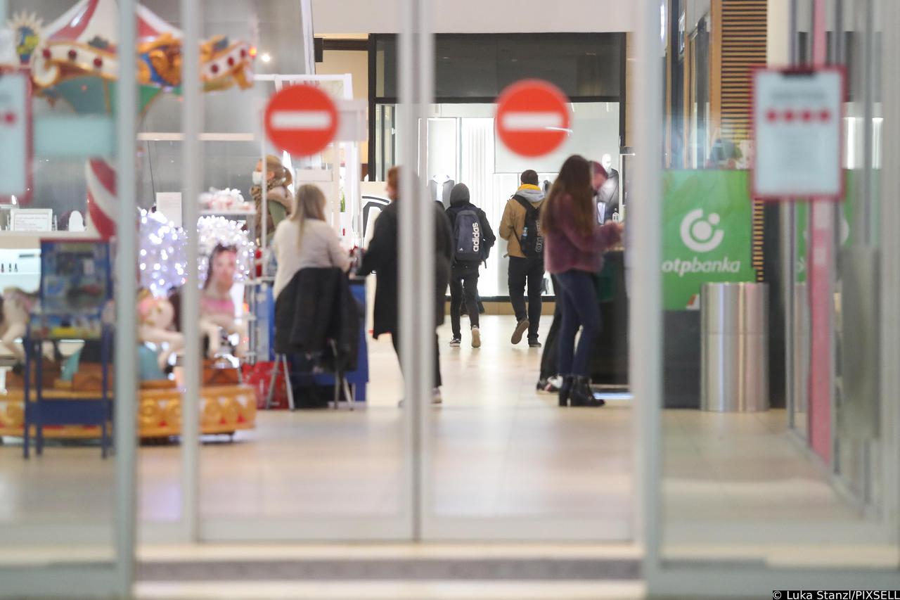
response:
<path id="1" fill-rule="evenodd" d="M 370 172 L 376 179 L 383 179 L 388 168 L 404 161 L 395 151 L 396 51 L 396 36 L 374 36 L 375 98 L 370 106 L 375 114 L 370 150 L 374 164 Z M 435 69 L 437 104 L 428 121 L 426 175 L 469 186 L 473 202 L 495 227 L 523 170 L 535 169 L 549 184 L 565 157 L 580 153 L 597 161 L 608 154 L 613 168 L 622 171 L 624 34 L 439 34 Z M 534 160 L 510 153 L 496 140 L 494 130 L 494 99 L 503 88 L 524 78 L 545 79 L 572 100 L 569 140 L 560 150 Z M 509 293 L 505 242 L 499 244 L 482 276 L 482 296 Z M 547 286 L 547 293 L 553 293 L 552 287 Z"/>

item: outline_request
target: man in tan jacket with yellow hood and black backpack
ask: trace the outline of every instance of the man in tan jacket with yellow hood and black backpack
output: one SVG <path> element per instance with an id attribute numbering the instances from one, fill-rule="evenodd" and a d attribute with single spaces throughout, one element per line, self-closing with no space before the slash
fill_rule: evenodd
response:
<path id="1" fill-rule="evenodd" d="M 500 237 L 509 242 L 509 301 L 516 312 L 516 330 L 511 342 L 518 344 L 528 332 L 528 346 L 540 348 L 537 328 L 541 324 L 541 286 L 544 283 L 544 237 L 541 235 L 541 205 L 544 192 L 537 173 L 524 171 L 522 183 L 507 202 L 500 222 Z M 525 288 L 528 287 L 528 306 Z"/>

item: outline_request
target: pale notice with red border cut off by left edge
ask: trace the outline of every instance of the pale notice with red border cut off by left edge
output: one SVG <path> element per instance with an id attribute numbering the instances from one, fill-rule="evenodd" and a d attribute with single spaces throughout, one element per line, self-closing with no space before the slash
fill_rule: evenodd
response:
<path id="1" fill-rule="evenodd" d="M 24 73 L 0 74 L 0 196 L 20 204 L 31 188 L 31 102 Z"/>

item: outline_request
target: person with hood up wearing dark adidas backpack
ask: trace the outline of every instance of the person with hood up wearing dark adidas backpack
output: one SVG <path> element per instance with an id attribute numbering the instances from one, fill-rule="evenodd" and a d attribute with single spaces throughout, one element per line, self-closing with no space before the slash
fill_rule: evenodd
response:
<path id="1" fill-rule="evenodd" d="M 453 327 L 450 346 L 459 348 L 463 342 L 460 317 L 465 298 L 469 324 L 472 327 L 472 347 L 480 348 L 482 332 L 478 327 L 478 268 L 488 258 L 497 238 L 491 231 L 488 216 L 470 201 L 469 188 L 465 184 L 456 184 L 451 190 L 447 217 L 450 219 L 454 242 L 453 268 L 450 270 L 450 324 Z"/>

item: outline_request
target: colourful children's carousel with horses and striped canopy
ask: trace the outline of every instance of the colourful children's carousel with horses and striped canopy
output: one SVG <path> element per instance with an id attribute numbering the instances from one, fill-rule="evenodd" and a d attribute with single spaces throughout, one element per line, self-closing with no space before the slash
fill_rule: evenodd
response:
<path id="1" fill-rule="evenodd" d="M 139 114 L 158 95 L 179 94 L 182 33 L 146 7 L 138 9 Z M 17 15 L 9 23 L 16 44 L 18 68 L 31 78 L 31 93 L 49 105 L 67 105 L 76 114 L 112 114 L 121 52 L 117 45 L 118 6 L 115 0 L 82 0 L 55 22 L 42 26 L 29 15 Z M 246 89 L 253 84 L 255 48 L 248 42 L 217 36 L 202 43 L 201 73 L 205 91 L 231 86 Z M 115 168 L 105 159 L 88 159 L 86 221 L 88 231 L 113 240 L 115 231 Z M 182 391 L 178 386 L 178 362 L 184 349 L 184 333 L 178 331 L 179 286 L 184 285 L 185 233 L 158 213 L 135 215 L 140 239 L 141 282 L 135 299 L 139 313 L 139 409 L 141 438 L 167 438 L 181 432 Z M 197 223 L 201 259 L 196 265 L 202 281 L 201 334 L 205 343 L 203 381 L 199 409 L 203 433 L 233 434 L 255 427 L 258 391 L 240 383 L 240 358 L 246 351 L 247 316 L 236 310 L 232 287 L 253 268 L 252 232 L 224 219 L 203 218 Z M 15 359 L 23 359 L 20 339 L 29 315 L 40 310 L 36 295 L 20 289 L 4 289 L 0 343 Z M 240 303 L 238 303 L 240 304 Z M 237 307 L 238 309 L 241 306 Z M 90 342 L 66 358 L 58 351 L 44 359 L 41 385 L 44 397 L 97 395 L 102 377 L 89 355 Z M 0 436 L 23 436 L 24 386 L 16 369 L 8 371 L 5 393 L 0 395 Z M 31 384 L 33 386 L 33 381 Z M 109 385 L 109 384 L 107 384 Z M 33 389 L 33 387 L 32 387 Z M 33 400 L 33 394 L 32 400 Z M 114 402 L 114 401 L 113 401 Z M 100 437 L 99 427 L 45 426 L 49 438 Z"/>

